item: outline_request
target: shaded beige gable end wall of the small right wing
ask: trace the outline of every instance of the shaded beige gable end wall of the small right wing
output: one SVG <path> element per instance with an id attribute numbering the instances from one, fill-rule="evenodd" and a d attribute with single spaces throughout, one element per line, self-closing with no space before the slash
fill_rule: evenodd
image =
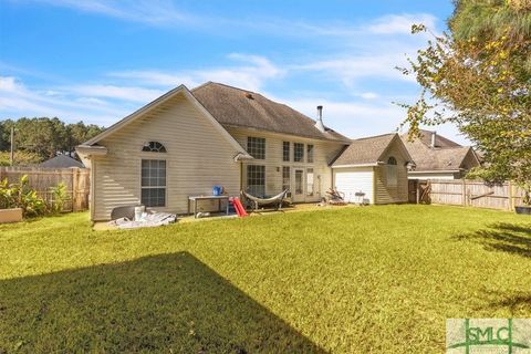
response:
<path id="1" fill-rule="evenodd" d="M 387 184 L 387 159 L 394 156 L 396 158 L 396 186 L 388 186 Z M 386 153 L 381 158 L 385 165 L 374 167 L 374 183 L 375 183 L 375 204 L 393 204 L 407 202 L 408 183 L 407 183 L 407 167 L 406 156 L 399 148 L 398 140 L 393 142 Z"/>

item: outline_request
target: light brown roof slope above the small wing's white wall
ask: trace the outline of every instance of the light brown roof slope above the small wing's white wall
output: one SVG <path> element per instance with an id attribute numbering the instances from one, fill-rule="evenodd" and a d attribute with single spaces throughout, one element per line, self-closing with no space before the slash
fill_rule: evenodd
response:
<path id="1" fill-rule="evenodd" d="M 332 163 L 332 167 L 377 164 L 398 134 L 384 134 L 352 140 L 343 153 Z"/>

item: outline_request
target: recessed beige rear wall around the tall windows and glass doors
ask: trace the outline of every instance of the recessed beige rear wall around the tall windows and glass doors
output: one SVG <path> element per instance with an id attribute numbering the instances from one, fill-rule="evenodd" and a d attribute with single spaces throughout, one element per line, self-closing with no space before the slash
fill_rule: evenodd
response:
<path id="1" fill-rule="evenodd" d="M 247 186 L 247 165 L 263 165 L 266 166 L 266 194 L 275 195 L 282 191 L 282 166 L 291 167 L 291 177 L 293 178 L 293 168 L 313 168 L 314 173 L 314 195 L 306 197 L 304 201 L 319 201 L 326 189 L 332 186 L 332 170 L 329 164 L 337 156 L 344 144 L 327 140 L 317 140 L 310 138 L 296 137 L 293 135 L 283 135 L 275 133 L 261 132 L 256 129 L 246 129 L 240 127 L 228 127 L 227 131 L 235 137 L 235 139 L 247 148 L 247 137 L 263 137 L 266 138 L 266 159 L 254 159 L 243 163 L 243 180 L 242 188 Z M 290 162 L 282 159 L 282 142 L 290 142 Z M 293 162 L 293 143 L 304 144 L 304 162 Z M 313 163 L 306 163 L 306 145 L 312 144 L 313 147 Z M 320 176 L 320 178 L 317 178 Z"/>

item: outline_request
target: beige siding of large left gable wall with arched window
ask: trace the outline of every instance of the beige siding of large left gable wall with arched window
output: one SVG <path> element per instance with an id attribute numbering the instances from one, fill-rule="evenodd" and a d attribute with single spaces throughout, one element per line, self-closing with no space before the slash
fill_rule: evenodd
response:
<path id="1" fill-rule="evenodd" d="M 159 142 L 167 153 L 146 153 L 146 142 Z M 231 196 L 240 188 L 240 166 L 227 138 L 188 100 L 177 95 L 98 143 L 108 153 L 95 157 L 95 220 L 110 219 L 111 210 L 140 201 L 140 160 L 166 160 L 166 207 L 160 211 L 187 212 L 189 195 L 211 195 L 221 185 Z M 210 209 L 208 205 L 200 206 Z"/>

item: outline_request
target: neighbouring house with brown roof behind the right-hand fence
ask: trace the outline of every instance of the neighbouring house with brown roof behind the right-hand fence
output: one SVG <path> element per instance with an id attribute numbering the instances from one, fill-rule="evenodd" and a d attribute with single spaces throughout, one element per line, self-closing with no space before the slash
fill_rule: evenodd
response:
<path id="1" fill-rule="evenodd" d="M 436 132 L 419 133 L 420 137 L 413 142 L 407 140 L 407 134 L 402 136 L 416 165 L 408 174 L 409 179 L 460 179 L 480 165 L 472 147 L 461 146 Z"/>

